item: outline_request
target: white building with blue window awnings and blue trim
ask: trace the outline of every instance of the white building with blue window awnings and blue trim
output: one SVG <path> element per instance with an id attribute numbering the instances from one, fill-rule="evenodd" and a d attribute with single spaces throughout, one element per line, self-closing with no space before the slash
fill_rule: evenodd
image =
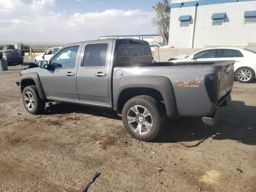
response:
<path id="1" fill-rule="evenodd" d="M 171 0 L 169 44 L 180 48 L 256 43 L 256 0 Z"/>

